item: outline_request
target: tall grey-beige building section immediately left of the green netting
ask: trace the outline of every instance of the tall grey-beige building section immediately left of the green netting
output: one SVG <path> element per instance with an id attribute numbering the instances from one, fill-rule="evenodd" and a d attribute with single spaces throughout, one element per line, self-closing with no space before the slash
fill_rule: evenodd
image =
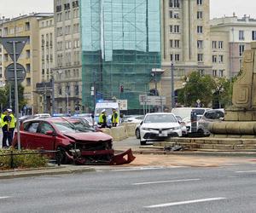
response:
<path id="1" fill-rule="evenodd" d="M 78 0 L 55 0 L 55 112 L 82 110 Z"/>

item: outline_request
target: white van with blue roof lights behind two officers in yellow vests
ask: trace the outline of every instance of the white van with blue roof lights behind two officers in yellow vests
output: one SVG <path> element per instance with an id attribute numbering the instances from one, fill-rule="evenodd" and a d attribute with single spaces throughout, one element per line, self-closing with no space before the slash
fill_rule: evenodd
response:
<path id="1" fill-rule="evenodd" d="M 102 110 L 105 109 L 106 115 L 107 115 L 107 123 L 108 123 L 108 125 L 110 125 L 111 117 L 113 114 L 113 112 L 112 112 L 113 108 L 116 109 L 116 111 L 120 115 L 119 103 L 117 101 L 99 101 L 99 102 L 97 102 L 95 111 L 94 111 L 94 117 L 95 117 L 96 123 L 98 123 L 98 121 L 99 121 L 99 116 L 100 116 Z M 119 119 L 119 122 L 120 122 L 120 119 Z"/>

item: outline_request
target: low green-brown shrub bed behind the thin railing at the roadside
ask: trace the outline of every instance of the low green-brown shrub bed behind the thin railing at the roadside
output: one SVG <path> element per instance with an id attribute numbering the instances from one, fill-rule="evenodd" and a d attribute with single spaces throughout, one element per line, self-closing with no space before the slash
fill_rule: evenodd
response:
<path id="1" fill-rule="evenodd" d="M 42 154 L 24 154 L 24 153 L 36 153 L 32 150 L 12 150 L 14 154 L 23 153 L 20 155 L 13 156 L 14 168 L 38 168 L 44 167 L 48 163 L 48 158 Z M 3 154 L 10 153 L 10 150 L 0 150 L 0 170 L 8 170 L 11 168 L 11 156 L 1 156 Z"/>

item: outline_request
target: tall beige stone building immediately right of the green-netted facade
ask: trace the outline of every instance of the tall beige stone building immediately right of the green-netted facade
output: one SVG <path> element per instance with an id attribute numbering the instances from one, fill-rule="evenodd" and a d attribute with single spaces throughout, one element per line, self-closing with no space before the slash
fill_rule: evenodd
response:
<path id="1" fill-rule="evenodd" d="M 183 77 L 212 74 L 209 0 L 161 0 L 162 74 L 160 93 L 171 103 L 171 64 L 175 89 Z"/>

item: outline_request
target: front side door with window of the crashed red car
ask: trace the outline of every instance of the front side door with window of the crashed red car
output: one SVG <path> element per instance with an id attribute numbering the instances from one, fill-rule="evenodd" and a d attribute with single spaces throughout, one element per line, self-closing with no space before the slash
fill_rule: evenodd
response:
<path id="1" fill-rule="evenodd" d="M 35 135 L 34 147 L 36 149 L 42 150 L 54 150 L 55 149 L 55 135 L 46 135 L 48 131 L 53 131 L 55 129 L 51 124 L 45 121 L 41 121 L 38 126 L 37 134 Z"/>

